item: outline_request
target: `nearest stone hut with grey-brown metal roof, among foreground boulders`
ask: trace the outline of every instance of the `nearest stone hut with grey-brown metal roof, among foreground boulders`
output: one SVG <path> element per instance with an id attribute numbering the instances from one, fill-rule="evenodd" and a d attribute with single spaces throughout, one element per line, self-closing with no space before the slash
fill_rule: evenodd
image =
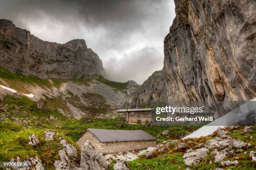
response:
<path id="1" fill-rule="evenodd" d="M 156 138 L 143 130 L 87 129 L 77 141 L 80 148 L 89 140 L 99 153 L 120 153 L 142 150 L 156 145 Z"/>

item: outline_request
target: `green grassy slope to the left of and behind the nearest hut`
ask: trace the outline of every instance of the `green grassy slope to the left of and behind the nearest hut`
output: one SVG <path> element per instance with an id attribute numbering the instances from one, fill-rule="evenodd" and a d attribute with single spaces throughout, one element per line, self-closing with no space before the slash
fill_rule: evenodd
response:
<path id="1" fill-rule="evenodd" d="M 167 126 L 146 127 L 143 125 L 129 125 L 118 119 L 107 118 L 84 117 L 81 120 L 67 119 L 67 117 L 59 114 L 56 110 L 38 110 L 36 102 L 27 97 L 15 97 L 12 95 L 4 96 L 4 100 L 0 102 L 0 107 L 3 106 L 7 107 L 9 111 L 0 111 L 1 118 L 4 118 L 0 121 L 0 161 L 9 161 L 17 156 L 21 160 L 27 157 L 38 156 L 46 170 L 55 169 L 53 165 L 54 160 L 59 159 L 57 152 L 62 147 L 59 144 L 59 137 L 66 139 L 69 143 L 76 146 L 78 153 L 80 153 L 76 140 L 79 139 L 87 128 L 145 130 L 155 137 L 166 129 L 174 128 L 178 135 L 189 133 L 192 130 L 192 128 L 188 127 L 170 128 Z M 57 117 L 57 120 L 49 120 L 50 115 Z M 23 120 L 26 120 L 28 123 L 20 125 L 20 122 Z M 119 128 L 118 125 L 123 126 Z M 44 131 L 46 130 L 53 130 L 58 133 L 54 141 L 44 140 Z M 28 145 L 28 136 L 33 134 L 40 140 L 40 145 L 35 148 Z M 177 135 L 175 135 L 175 138 L 177 138 Z M 159 139 L 162 141 L 169 138 L 159 135 Z"/>

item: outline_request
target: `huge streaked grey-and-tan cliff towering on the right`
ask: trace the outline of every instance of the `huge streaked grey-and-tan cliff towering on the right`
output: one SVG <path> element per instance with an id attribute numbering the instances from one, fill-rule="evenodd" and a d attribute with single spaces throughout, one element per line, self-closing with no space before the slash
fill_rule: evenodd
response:
<path id="1" fill-rule="evenodd" d="M 256 97 L 256 1 L 175 0 L 175 5 L 176 18 L 164 39 L 164 68 L 143 83 L 132 107 Z"/>

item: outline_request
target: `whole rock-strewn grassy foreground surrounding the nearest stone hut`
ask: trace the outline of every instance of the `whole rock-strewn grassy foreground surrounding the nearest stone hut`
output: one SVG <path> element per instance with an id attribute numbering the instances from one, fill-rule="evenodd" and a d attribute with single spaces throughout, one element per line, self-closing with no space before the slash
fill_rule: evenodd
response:
<path id="1" fill-rule="evenodd" d="M 23 95 L 0 95 L 1 161 L 26 161 L 30 168 L 50 170 L 256 168 L 254 126 L 226 127 L 207 137 L 181 140 L 200 126 L 152 127 L 95 117 L 76 120 L 57 110 L 38 109 L 42 106 Z M 76 141 L 87 128 L 144 130 L 158 138 L 158 144 L 146 150 L 104 155 L 96 153 L 89 142 L 82 149 L 78 147 Z"/>

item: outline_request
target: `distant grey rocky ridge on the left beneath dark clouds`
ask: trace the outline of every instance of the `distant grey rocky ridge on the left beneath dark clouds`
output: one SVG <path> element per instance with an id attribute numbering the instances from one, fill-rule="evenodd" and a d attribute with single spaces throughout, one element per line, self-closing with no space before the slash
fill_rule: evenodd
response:
<path id="1" fill-rule="evenodd" d="M 103 75 L 102 61 L 87 48 L 84 40 L 71 40 L 66 44 L 43 41 L 4 19 L 0 20 L 0 67 L 43 79 Z"/>

